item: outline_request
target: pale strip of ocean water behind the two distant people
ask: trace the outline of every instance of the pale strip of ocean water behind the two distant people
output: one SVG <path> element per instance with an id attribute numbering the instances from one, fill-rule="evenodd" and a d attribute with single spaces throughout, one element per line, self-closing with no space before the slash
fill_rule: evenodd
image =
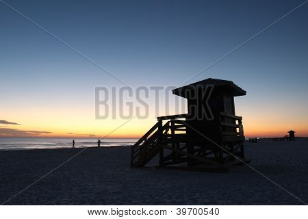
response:
<path id="1" fill-rule="evenodd" d="M 75 147 L 96 147 L 97 138 L 0 138 L 0 150 L 25 149 L 65 149 Z M 131 146 L 138 139 L 133 138 L 107 138 L 101 139 L 101 146 Z"/>

